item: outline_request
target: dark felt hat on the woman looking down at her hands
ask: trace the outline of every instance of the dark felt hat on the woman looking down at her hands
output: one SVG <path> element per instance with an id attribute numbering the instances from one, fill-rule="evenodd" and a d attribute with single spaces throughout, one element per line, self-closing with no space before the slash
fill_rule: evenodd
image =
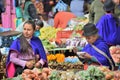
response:
<path id="1" fill-rule="evenodd" d="M 83 28 L 83 36 L 91 36 L 98 32 L 96 26 L 92 23 L 87 23 Z"/>

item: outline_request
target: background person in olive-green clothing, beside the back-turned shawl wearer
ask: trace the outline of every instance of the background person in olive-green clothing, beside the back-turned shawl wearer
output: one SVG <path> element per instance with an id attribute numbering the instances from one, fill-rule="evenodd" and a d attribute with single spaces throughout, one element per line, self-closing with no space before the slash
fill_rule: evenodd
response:
<path id="1" fill-rule="evenodd" d="M 103 9 L 105 0 L 94 0 L 90 6 L 89 22 L 96 24 L 101 16 L 105 14 Z"/>

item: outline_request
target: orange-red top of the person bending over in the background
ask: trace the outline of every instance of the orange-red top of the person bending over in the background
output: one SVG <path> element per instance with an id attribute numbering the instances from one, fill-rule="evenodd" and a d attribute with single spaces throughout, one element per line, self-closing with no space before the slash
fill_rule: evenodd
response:
<path id="1" fill-rule="evenodd" d="M 70 19 L 75 18 L 76 16 L 71 12 L 58 12 L 54 18 L 54 27 L 55 28 L 66 28 Z"/>

